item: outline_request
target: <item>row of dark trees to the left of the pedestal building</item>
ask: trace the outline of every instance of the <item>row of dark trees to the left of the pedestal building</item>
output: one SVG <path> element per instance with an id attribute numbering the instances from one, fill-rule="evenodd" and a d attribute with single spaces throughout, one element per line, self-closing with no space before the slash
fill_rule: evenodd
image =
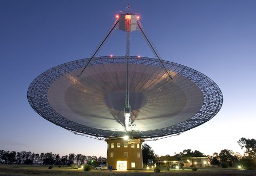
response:
<path id="1" fill-rule="evenodd" d="M 92 164 L 106 163 L 105 157 L 85 156 L 82 154 L 60 156 L 59 154 L 31 152 L 10 152 L 0 150 L 0 164 L 41 164 L 41 165 L 71 165 L 71 164 Z"/>

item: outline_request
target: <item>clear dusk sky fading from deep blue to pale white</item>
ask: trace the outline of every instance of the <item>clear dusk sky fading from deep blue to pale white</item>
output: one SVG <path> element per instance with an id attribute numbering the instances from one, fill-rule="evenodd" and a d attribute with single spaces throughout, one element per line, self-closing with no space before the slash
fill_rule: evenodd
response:
<path id="1" fill-rule="evenodd" d="M 157 155 L 184 149 L 206 155 L 256 138 L 256 1 L 0 0 L 0 150 L 107 156 L 107 143 L 44 120 L 27 89 L 42 72 L 88 58 L 130 4 L 163 60 L 186 65 L 220 87 L 223 105 L 210 121 L 179 136 L 145 141 Z M 124 55 L 126 33 L 114 32 L 97 56 Z M 139 31 L 132 56 L 154 57 Z M 104 121 L 102 121 L 104 123 Z"/>

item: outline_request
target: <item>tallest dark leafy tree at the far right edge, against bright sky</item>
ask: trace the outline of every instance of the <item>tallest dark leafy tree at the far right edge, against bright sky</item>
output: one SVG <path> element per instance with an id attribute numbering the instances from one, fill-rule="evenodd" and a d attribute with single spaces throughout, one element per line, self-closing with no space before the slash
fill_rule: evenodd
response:
<path id="1" fill-rule="evenodd" d="M 242 149 L 245 149 L 244 153 L 250 158 L 256 158 L 256 140 L 241 138 L 237 141 Z"/>

